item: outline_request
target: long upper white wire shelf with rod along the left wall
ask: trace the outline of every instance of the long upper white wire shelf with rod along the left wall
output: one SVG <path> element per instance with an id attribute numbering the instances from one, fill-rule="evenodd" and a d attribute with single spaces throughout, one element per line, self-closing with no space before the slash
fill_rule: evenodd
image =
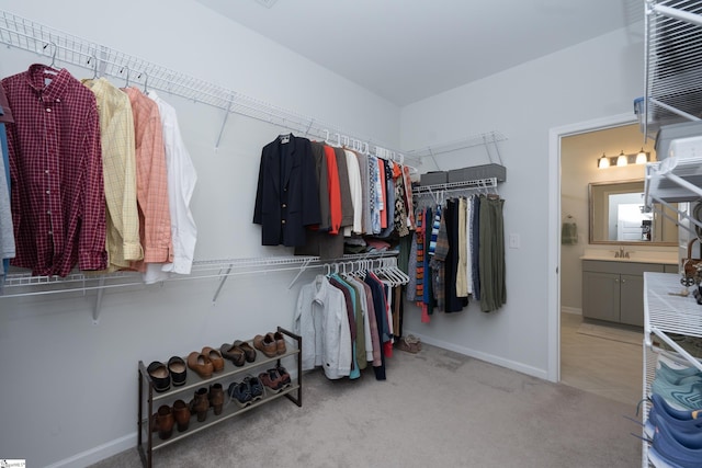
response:
<path id="1" fill-rule="evenodd" d="M 90 69 L 97 76 L 128 78 L 132 84 L 139 83 L 145 88 L 148 84 L 149 89 L 224 110 L 225 115 L 229 113 L 245 115 L 302 136 L 321 139 L 325 135 L 343 133 L 338 126 L 326 124 L 318 118 L 284 110 L 2 10 L 0 10 L 0 43 L 52 58 L 52 61 Z M 217 146 L 220 139 L 222 134 Z M 375 144 L 367 138 L 353 137 L 353 139 L 364 141 L 371 153 L 380 157 L 385 155 L 386 159 L 388 151 L 401 155 L 400 151 L 387 149 L 386 146 Z"/>

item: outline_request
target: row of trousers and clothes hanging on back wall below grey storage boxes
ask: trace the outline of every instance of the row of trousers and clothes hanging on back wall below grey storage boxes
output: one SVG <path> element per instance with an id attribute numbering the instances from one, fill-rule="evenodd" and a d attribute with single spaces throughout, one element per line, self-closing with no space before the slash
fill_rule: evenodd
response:
<path id="1" fill-rule="evenodd" d="M 505 201 L 483 193 L 433 202 L 416 209 L 407 299 L 420 307 L 422 322 L 434 310 L 462 311 L 471 297 L 484 312 L 499 309 L 507 300 Z"/>

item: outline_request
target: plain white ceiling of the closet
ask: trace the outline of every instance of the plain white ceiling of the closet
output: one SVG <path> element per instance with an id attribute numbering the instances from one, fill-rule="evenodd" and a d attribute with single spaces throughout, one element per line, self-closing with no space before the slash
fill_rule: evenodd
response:
<path id="1" fill-rule="evenodd" d="M 398 106 L 625 27 L 644 11 L 644 0 L 196 1 Z"/>

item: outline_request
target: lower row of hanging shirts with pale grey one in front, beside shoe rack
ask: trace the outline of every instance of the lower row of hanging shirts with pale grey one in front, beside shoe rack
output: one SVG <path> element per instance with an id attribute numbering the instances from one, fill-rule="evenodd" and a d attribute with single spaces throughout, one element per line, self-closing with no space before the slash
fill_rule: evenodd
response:
<path id="1" fill-rule="evenodd" d="M 407 281 L 393 267 L 329 272 L 303 285 L 294 318 L 305 342 L 303 370 L 321 367 L 329 379 L 356 379 L 370 364 L 375 378 L 385 380 L 385 358 L 401 334 L 400 292 Z"/>

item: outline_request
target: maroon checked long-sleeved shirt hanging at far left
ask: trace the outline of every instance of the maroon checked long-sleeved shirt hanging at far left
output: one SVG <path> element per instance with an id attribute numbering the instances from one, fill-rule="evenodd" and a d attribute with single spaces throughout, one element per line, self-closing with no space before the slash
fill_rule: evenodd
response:
<path id="1" fill-rule="evenodd" d="M 14 116 L 12 264 L 66 276 L 76 264 L 107 266 L 100 123 L 94 94 L 68 70 L 50 70 L 36 64 L 1 81 Z"/>

